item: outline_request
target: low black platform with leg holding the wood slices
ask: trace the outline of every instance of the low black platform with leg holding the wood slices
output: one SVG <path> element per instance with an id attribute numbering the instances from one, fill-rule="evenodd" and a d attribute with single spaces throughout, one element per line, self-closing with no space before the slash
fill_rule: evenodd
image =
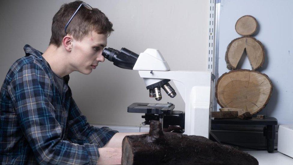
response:
<path id="1" fill-rule="evenodd" d="M 274 143 L 276 137 L 275 126 L 278 124 L 278 120 L 273 117 L 266 117 L 265 119 L 257 119 L 252 117 L 250 120 L 242 120 L 239 118 L 232 119 L 213 119 L 211 124 L 238 124 L 238 125 L 265 125 L 263 131 L 266 137 L 266 149 L 269 153 L 274 151 Z"/>

